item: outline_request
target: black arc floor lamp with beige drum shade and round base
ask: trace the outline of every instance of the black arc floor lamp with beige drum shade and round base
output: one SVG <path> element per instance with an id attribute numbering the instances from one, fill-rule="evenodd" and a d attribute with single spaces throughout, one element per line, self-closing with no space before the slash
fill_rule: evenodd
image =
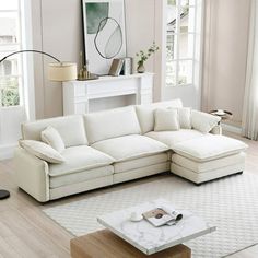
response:
<path id="1" fill-rule="evenodd" d="M 56 61 L 56 62 L 48 63 L 48 80 L 49 81 L 64 82 L 64 81 L 77 80 L 77 77 L 78 77 L 77 63 L 62 62 L 50 54 L 35 50 L 35 49 L 26 49 L 26 50 L 11 52 L 7 55 L 5 57 L 3 57 L 0 60 L 0 63 L 13 55 L 23 54 L 23 52 L 34 52 L 34 54 L 45 55 L 45 56 L 48 56 L 49 58 L 52 58 Z M 0 189 L 0 200 L 7 199 L 9 197 L 10 197 L 10 192 L 8 190 Z"/>

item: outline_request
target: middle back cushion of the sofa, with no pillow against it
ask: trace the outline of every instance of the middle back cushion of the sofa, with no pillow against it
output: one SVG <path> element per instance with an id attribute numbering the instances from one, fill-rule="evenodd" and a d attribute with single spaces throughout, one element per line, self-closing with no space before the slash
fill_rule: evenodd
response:
<path id="1" fill-rule="evenodd" d="M 141 133 L 133 106 L 86 114 L 84 120 L 90 144 L 116 137 Z"/>

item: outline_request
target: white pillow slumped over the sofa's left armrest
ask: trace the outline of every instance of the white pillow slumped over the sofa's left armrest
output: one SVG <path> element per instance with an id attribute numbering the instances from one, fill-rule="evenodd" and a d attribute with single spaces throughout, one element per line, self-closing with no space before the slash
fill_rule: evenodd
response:
<path id="1" fill-rule="evenodd" d="M 34 140 L 20 140 L 20 145 L 25 149 L 28 153 L 46 161 L 49 163 L 62 163 L 64 162 L 63 156 L 52 149 L 50 145 Z"/>

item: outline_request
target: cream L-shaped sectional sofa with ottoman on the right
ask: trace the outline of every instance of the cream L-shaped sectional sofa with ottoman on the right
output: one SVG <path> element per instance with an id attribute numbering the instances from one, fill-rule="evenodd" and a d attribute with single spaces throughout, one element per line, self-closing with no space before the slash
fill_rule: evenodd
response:
<path id="1" fill-rule="evenodd" d="M 164 112 L 161 125 L 156 125 L 157 109 Z M 218 117 L 187 109 L 187 118 L 179 116 L 183 109 L 181 101 L 174 99 L 25 122 L 14 154 L 17 185 L 46 202 L 169 169 L 196 184 L 243 172 L 246 144 L 221 136 Z M 199 121 L 201 117 L 206 121 Z M 156 130 L 159 126 L 177 128 Z M 203 126 L 208 133 L 201 132 Z M 49 149 L 57 149 L 59 161 L 49 162 L 31 149 L 44 144 L 43 132 L 49 127 L 63 144 L 58 151 L 57 144 L 48 142 Z"/>

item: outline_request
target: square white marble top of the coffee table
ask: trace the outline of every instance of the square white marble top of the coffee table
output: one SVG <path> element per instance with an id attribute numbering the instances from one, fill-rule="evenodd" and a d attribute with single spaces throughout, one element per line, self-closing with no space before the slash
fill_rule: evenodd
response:
<path id="1" fill-rule="evenodd" d="M 172 226 L 155 227 L 145 220 L 130 221 L 132 212 L 143 213 L 162 204 L 169 206 L 171 203 L 164 199 L 157 199 L 101 215 L 97 221 L 146 255 L 155 254 L 215 231 L 215 226 L 210 225 L 202 218 L 188 210 L 179 210 L 183 213 L 183 219 Z"/>

